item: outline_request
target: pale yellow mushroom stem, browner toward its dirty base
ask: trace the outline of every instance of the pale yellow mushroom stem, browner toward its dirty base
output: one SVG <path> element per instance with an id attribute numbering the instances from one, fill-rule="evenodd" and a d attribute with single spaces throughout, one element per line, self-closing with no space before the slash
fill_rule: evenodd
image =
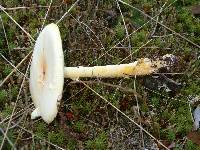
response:
<path id="1" fill-rule="evenodd" d="M 129 64 L 93 67 L 65 67 L 64 77 L 71 78 L 72 80 L 78 80 L 80 77 L 115 78 L 147 75 L 164 66 L 166 66 L 164 61 L 151 61 L 150 59 L 142 58 Z"/>

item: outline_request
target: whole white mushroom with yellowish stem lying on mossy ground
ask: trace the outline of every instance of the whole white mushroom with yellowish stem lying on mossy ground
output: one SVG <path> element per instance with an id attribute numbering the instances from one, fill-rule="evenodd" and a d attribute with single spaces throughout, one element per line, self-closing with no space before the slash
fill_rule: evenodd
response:
<path id="1" fill-rule="evenodd" d="M 39 116 L 51 123 L 58 112 L 62 97 L 64 77 L 78 80 L 81 77 L 115 78 L 147 75 L 164 67 L 161 60 L 142 58 L 129 64 L 64 67 L 64 56 L 60 32 L 56 24 L 47 25 L 39 34 L 30 67 L 30 92 L 35 110 L 31 119 Z"/>

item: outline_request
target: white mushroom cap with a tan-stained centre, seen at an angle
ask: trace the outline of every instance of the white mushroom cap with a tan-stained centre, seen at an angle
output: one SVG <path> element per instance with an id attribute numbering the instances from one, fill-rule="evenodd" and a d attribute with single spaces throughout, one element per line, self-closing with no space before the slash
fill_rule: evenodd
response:
<path id="1" fill-rule="evenodd" d="M 64 57 L 60 32 L 56 24 L 47 25 L 36 40 L 30 67 L 30 92 L 39 116 L 50 123 L 57 115 L 57 103 L 64 84 Z"/>

